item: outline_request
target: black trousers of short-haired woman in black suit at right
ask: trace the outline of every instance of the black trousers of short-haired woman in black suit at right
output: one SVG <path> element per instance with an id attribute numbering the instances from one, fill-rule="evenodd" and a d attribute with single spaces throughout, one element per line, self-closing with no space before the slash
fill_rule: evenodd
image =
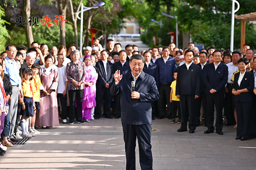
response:
<path id="1" fill-rule="evenodd" d="M 237 116 L 236 137 L 249 139 L 250 131 L 251 131 L 252 101 L 235 102 L 235 106 L 236 106 L 236 116 Z"/>

